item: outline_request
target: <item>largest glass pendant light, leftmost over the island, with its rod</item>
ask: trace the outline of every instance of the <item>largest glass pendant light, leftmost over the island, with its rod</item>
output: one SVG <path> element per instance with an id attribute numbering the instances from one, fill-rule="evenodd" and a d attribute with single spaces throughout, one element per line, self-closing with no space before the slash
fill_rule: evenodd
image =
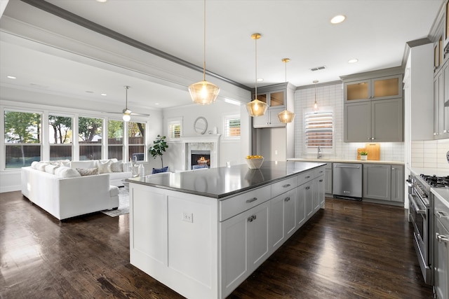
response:
<path id="1" fill-rule="evenodd" d="M 203 24 L 203 81 L 189 85 L 190 97 L 192 101 L 200 105 L 208 105 L 215 102 L 220 88 L 206 81 L 206 0 L 204 0 L 204 24 Z"/>

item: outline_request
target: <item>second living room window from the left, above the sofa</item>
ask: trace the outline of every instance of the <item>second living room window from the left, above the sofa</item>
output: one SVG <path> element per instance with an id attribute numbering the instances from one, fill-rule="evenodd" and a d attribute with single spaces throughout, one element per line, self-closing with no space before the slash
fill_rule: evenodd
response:
<path id="1" fill-rule="evenodd" d="M 72 118 L 48 116 L 50 160 L 72 160 Z"/>

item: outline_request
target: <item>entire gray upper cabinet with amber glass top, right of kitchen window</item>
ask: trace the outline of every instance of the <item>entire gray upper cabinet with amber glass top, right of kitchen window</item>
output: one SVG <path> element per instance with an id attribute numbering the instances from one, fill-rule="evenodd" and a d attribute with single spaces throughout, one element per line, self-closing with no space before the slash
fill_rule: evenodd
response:
<path id="1" fill-rule="evenodd" d="M 403 141 L 402 74 L 398 69 L 360 74 L 344 81 L 344 142 Z M 396 73 L 391 76 L 386 74 Z M 375 74 L 385 76 L 374 77 Z"/>

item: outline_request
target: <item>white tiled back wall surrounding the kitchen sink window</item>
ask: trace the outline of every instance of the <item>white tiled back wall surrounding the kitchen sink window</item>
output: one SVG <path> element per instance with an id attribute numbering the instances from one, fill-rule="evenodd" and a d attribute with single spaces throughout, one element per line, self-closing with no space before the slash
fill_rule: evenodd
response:
<path id="1" fill-rule="evenodd" d="M 309 109 L 315 101 L 315 88 L 311 86 L 295 92 L 295 158 L 316 158 L 316 153 L 304 153 L 304 109 Z M 323 158 L 349 159 L 357 158 L 357 148 L 364 148 L 365 143 L 343 142 L 343 83 L 316 86 L 316 102 L 319 107 L 331 107 L 334 111 L 335 150 L 323 153 Z M 381 142 L 380 160 L 404 161 L 403 142 Z"/>

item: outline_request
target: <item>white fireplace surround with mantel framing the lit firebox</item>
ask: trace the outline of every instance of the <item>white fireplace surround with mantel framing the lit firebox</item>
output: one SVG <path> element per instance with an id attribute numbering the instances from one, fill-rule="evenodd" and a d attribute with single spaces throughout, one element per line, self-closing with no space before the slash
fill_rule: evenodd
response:
<path id="1" fill-rule="evenodd" d="M 184 170 L 190 169 L 190 158 L 192 149 L 207 149 L 210 151 L 210 167 L 218 167 L 220 164 L 220 136 L 221 134 L 205 134 L 182 136 L 180 139 L 183 143 L 184 157 L 182 165 Z"/>

